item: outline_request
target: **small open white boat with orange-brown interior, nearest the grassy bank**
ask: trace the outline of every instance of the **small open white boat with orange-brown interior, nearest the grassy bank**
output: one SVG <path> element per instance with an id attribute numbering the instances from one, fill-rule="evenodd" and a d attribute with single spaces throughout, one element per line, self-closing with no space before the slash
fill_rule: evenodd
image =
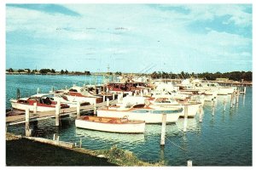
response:
<path id="1" fill-rule="evenodd" d="M 145 122 L 131 121 L 127 117 L 80 116 L 75 121 L 76 127 L 109 133 L 144 133 Z"/>

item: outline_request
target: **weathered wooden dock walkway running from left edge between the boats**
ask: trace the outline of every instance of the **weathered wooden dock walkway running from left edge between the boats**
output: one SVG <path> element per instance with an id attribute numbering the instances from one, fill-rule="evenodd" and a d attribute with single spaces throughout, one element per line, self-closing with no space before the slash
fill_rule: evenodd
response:
<path id="1" fill-rule="evenodd" d="M 109 101 L 110 105 L 116 104 L 117 99 Z M 107 101 L 96 104 L 96 108 L 101 108 L 107 105 Z M 94 110 L 94 105 L 84 105 L 80 106 L 80 111 L 93 111 Z M 66 108 L 66 109 L 61 109 L 60 116 L 67 116 L 67 115 L 73 115 L 77 113 L 77 108 L 72 107 L 72 108 Z M 33 121 L 39 121 L 43 119 L 48 119 L 55 117 L 55 111 L 42 111 L 38 113 L 30 113 L 30 122 Z M 20 123 L 25 123 L 25 114 L 24 115 L 16 115 L 16 116 L 6 116 L 6 125 L 15 125 L 15 124 L 20 124 Z"/>

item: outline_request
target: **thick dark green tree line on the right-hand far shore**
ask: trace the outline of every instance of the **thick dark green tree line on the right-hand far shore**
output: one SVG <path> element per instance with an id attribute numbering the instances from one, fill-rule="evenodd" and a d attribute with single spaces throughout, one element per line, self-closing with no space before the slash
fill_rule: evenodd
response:
<path id="1" fill-rule="evenodd" d="M 185 79 L 185 78 L 190 78 L 190 77 L 194 77 L 194 78 L 201 78 L 204 80 L 216 80 L 217 78 L 228 78 L 229 80 L 233 80 L 233 81 L 238 81 L 240 82 L 241 79 L 243 79 L 244 81 L 252 81 L 253 80 L 253 72 L 252 71 L 232 71 L 232 72 L 215 72 L 215 73 L 210 73 L 210 72 L 203 72 L 203 73 L 194 73 L 192 72 L 191 74 L 189 72 L 180 72 L 180 73 L 168 73 L 165 71 L 154 71 L 153 73 L 151 73 L 150 75 L 152 78 L 181 78 L 181 79 Z"/>

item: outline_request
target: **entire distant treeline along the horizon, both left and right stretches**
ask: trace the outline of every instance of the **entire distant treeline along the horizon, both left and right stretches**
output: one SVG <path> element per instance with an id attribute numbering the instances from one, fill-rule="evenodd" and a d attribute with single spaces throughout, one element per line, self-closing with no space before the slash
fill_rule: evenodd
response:
<path id="1" fill-rule="evenodd" d="M 55 69 L 40 69 L 40 70 L 30 70 L 30 69 L 18 69 L 14 70 L 12 68 L 7 69 L 9 73 L 26 73 L 26 74 L 61 74 L 61 75 L 67 75 L 67 74 L 73 74 L 73 75 L 91 75 L 90 71 L 67 71 L 67 69 L 61 70 L 61 71 L 55 71 Z M 127 73 L 127 72 L 106 72 L 109 75 L 117 75 L 121 76 L 122 74 L 137 74 L 137 75 L 142 75 L 142 76 L 150 76 L 151 78 L 180 78 L 180 79 L 185 79 L 185 78 L 200 78 L 200 79 L 205 79 L 205 80 L 216 80 L 217 78 L 226 78 L 229 80 L 233 81 L 252 81 L 253 80 L 253 72 L 252 71 L 231 71 L 231 72 L 202 72 L 202 73 L 189 73 L 189 72 L 184 72 L 181 71 L 180 73 L 173 73 L 173 72 L 165 72 L 165 71 L 154 71 L 151 74 L 150 73 Z"/>

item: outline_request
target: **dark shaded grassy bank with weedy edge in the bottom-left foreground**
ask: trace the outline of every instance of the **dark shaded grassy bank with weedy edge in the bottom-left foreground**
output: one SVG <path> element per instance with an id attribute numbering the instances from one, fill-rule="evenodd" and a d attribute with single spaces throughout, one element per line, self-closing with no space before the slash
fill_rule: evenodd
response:
<path id="1" fill-rule="evenodd" d="M 138 160 L 131 151 L 65 149 L 6 133 L 7 166 L 163 166 Z"/>

